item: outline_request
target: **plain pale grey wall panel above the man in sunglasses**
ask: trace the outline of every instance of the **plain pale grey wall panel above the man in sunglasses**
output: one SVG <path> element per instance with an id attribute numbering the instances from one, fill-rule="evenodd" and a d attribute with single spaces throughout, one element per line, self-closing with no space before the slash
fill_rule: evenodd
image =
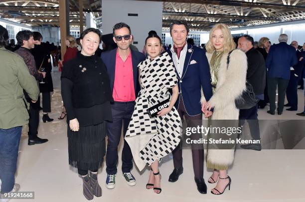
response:
<path id="1" fill-rule="evenodd" d="M 161 37 L 162 2 L 138 0 L 102 0 L 103 34 L 112 33 L 113 26 L 125 22 L 131 27 L 134 41 L 142 51 L 148 32 L 155 30 Z M 138 13 L 138 16 L 128 16 Z"/>

